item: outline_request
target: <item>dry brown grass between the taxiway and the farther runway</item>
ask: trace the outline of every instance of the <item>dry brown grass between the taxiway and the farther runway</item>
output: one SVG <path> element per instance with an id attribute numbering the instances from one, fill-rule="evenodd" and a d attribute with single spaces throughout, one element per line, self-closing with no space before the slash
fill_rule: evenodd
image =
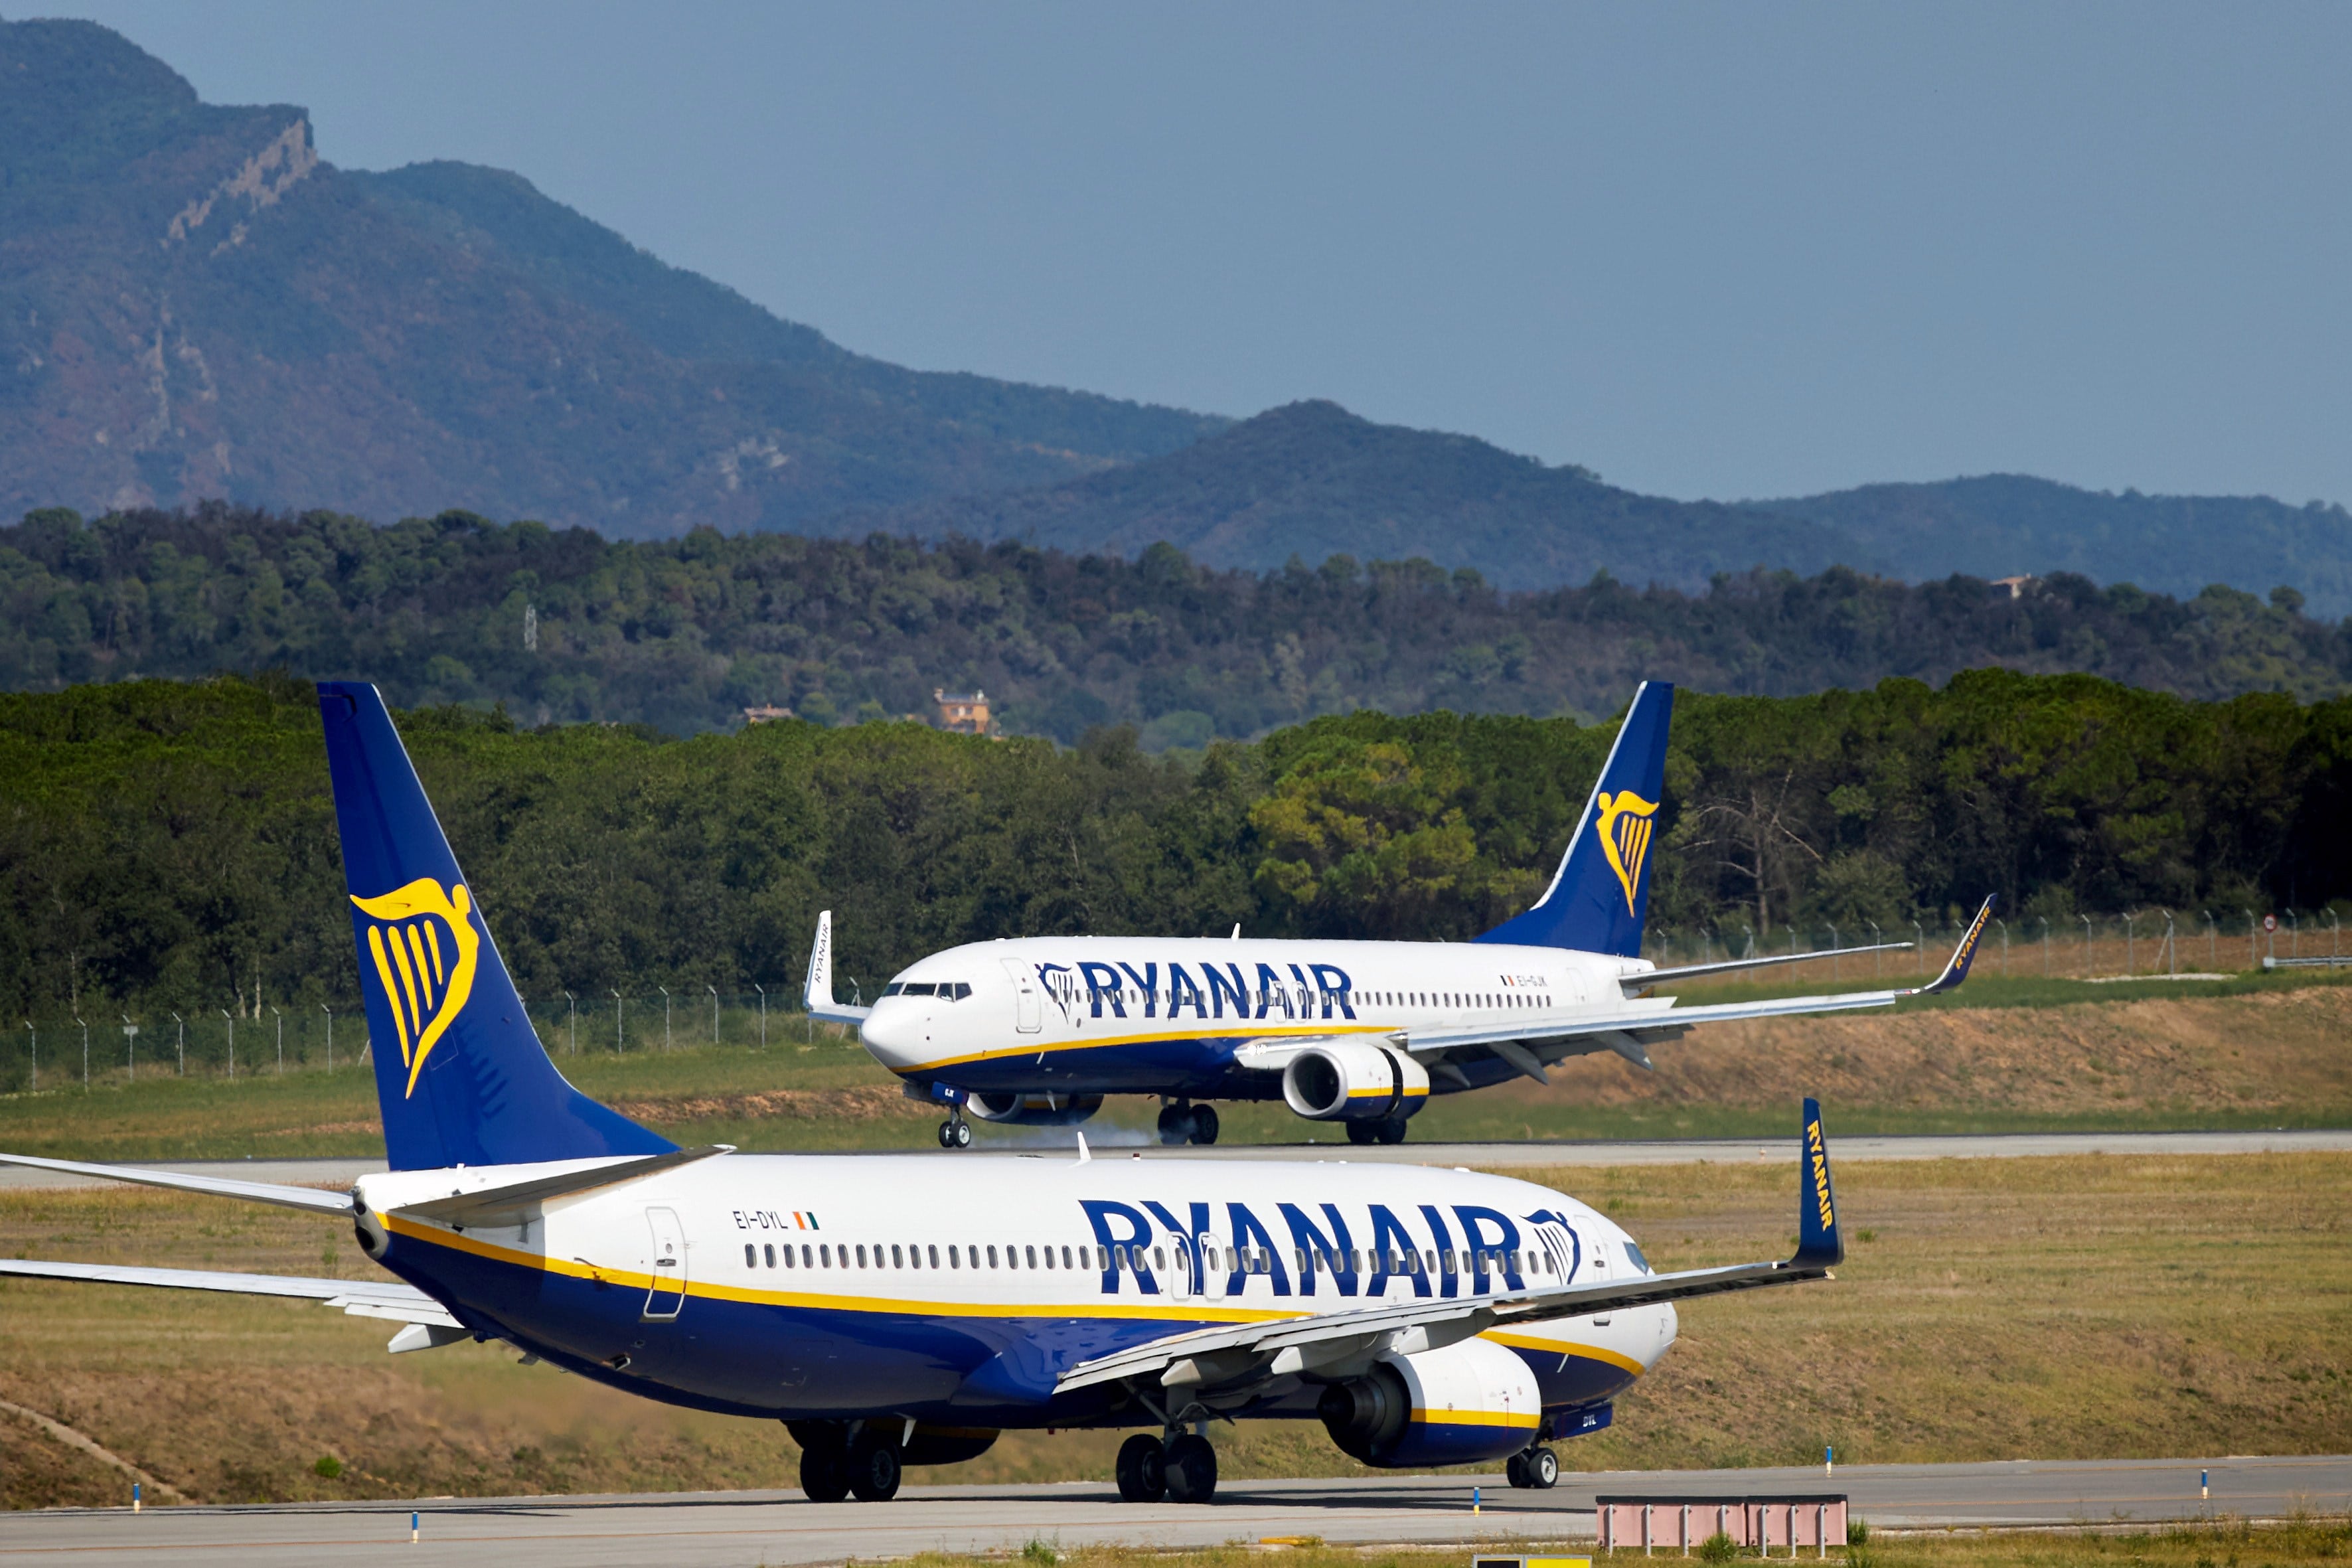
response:
<path id="1" fill-rule="evenodd" d="M 1557 1171 L 1658 1267 L 1776 1255 L 1790 1173 Z M 1578 1469 L 2343 1453 L 2352 1157 L 1882 1161 L 1839 1168 L 1835 1284 L 1698 1302 Z M 1867 1237 L 1867 1239 L 1863 1239 Z M 362 1276 L 348 1229 L 174 1194 L 0 1194 L 0 1253 Z M 198 1500 L 790 1486 L 779 1427 L 670 1410 L 513 1352 L 388 1359 L 308 1305 L 0 1284 L 0 1399 Z M 1315 1425 L 1221 1434 L 1235 1476 L 1359 1474 Z M 1009 1434 L 938 1479 L 1108 1476 L 1115 1434 Z M 313 1462 L 346 1474 L 327 1481 Z M 118 1502 L 115 1472 L 0 1418 L 12 1507 Z"/>

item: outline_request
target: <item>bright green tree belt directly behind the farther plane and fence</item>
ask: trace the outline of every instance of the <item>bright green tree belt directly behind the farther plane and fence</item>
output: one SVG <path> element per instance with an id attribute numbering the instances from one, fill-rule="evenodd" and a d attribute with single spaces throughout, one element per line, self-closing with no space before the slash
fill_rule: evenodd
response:
<path id="1" fill-rule="evenodd" d="M 670 741 L 459 708 L 402 731 L 534 997 L 781 990 L 821 907 L 868 985 L 1047 931 L 1465 938 L 1543 886 L 1613 733 L 1359 712 L 1150 759 L 1129 731 L 1075 750 L 917 724 Z M 2187 703 L 1999 670 L 1684 693 L 1651 919 L 1769 940 L 1790 919 L 1940 922 L 1987 891 L 2011 919 L 2310 907 L 2352 893 L 2347 809 L 2347 698 Z M 348 1006 L 350 966 L 308 686 L 0 698 L 12 1018 Z"/>

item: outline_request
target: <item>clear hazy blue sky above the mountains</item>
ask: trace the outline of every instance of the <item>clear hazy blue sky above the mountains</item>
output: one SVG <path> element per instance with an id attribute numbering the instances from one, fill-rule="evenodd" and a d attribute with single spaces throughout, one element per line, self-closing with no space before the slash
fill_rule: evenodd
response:
<path id="1" fill-rule="evenodd" d="M 2345 5 L 78 5 L 903 364 L 2352 501 Z"/>

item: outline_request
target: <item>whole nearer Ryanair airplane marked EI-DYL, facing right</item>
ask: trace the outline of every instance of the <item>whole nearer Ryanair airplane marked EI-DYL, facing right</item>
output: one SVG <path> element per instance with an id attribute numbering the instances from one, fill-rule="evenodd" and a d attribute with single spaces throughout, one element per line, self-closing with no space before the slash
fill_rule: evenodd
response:
<path id="1" fill-rule="evenodd" d="M 388 1349 L 496 1340 L 781 1420 L 811 1500 L 1007 1427 L 1134 1427 L 1120 1495 L 1207 1502 L 1216 1420 L 1319 1420 L 1367 1465 L 1505 1460 L 1609 1425 L 1675 1302 L 1842 1260 L 1804 1103 L 1788 1260 L 1658 1274 L 1557 1192 L 1418 1166 L 739 1154 L 597 1105 L 541 1048 L 374 686 L 322 684 L 390 1171 L 350 1192 L 0 1154 L 348 1222 L 383 1279 L 0 1260 L 0 1274 L 313 1300 Z M 1152 990 L 1150 985 L 1141 990 Z M 1334 1001 L 1338 1006 L 1338 1001 Z"/>

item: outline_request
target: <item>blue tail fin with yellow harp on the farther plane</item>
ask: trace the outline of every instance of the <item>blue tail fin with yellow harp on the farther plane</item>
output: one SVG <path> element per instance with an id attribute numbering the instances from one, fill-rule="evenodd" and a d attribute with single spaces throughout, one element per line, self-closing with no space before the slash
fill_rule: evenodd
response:
<path id="1" fill-rule="evenodd" d="M 1675 689 L 1642 682 L 1552 886 L 1534 910 L 1477 940 L 1642 957 L 1651 830 L 1665 797 L 1665 729 L 1672 717 Z"/>

